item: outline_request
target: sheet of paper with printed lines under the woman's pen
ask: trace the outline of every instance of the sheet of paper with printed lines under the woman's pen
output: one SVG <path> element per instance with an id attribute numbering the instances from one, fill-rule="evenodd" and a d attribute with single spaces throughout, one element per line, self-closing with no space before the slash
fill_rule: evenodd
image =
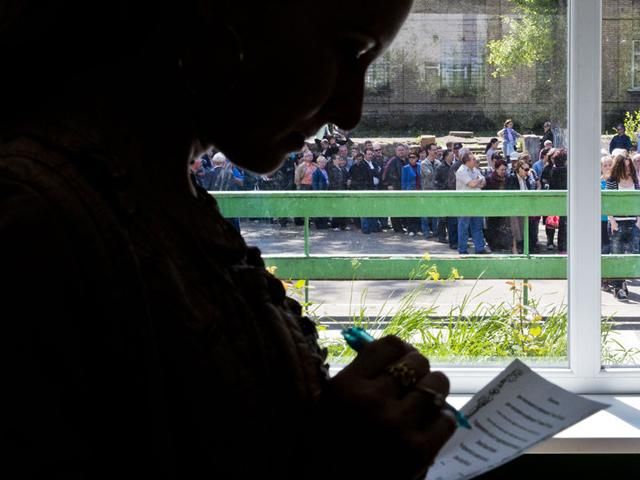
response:
<path id="1" fill-rule="evenodd" d="M 514 360 L 462 407 L 472 429 L 458 428 L 426 479 L 473 478 L 607 407 L 567 392 Z"/>

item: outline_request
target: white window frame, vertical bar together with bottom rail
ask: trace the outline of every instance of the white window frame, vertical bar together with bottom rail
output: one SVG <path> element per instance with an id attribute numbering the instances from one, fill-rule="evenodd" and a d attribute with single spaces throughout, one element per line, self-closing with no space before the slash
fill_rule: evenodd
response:
<path id="1" fill-rule="evenodd" d="M 605 369 L 601 361 L 602 0 L 569 0 L 568 7 L 569 366 L 535 370 L 576 393 L 637 394 L 640 368 Z M 452 393 L 473 393 L 501 369 L 443 370 Z"/>

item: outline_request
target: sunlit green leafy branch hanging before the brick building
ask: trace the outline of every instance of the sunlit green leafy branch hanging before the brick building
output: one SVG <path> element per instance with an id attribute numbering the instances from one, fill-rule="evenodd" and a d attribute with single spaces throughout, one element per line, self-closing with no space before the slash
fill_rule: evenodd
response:
<path id="1" fill-rule="evenodd" d="M 558 0 L 510 0 L 514 15 L 502 17 L 505 36 L 487 44 L 494 78 L 513 75 L 521 66 L 547 62 L 555 50 Z"/>

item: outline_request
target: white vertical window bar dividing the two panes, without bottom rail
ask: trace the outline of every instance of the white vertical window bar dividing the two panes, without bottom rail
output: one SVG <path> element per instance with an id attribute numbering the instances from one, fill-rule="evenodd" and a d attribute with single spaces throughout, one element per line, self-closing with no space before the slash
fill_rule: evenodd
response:
<path id="1" fill-rule="evenodd" d="M 569 2 L 569 365 L 595 380 L 600 346 L 601 0 Z"/>

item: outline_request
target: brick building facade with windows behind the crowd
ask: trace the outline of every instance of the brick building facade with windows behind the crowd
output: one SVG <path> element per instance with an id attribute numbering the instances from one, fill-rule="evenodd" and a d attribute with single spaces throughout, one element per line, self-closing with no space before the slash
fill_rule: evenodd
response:
<path id="1" fill-rule="evenodd" d="M 540 0 L 548 2 L 549 0 Z M 553 1 L 553 0 L 551 0 Z M 555 2 L 547 58 L 496 76 L 488 45 L 522 18 L 510 0 L 417 0 L 389 50 L 367 72 L 358 132 L 523 133 L 566 127 L 567 2 Z M 640 0 L 603 1 L 603 129 L 640 103 Z"/>

